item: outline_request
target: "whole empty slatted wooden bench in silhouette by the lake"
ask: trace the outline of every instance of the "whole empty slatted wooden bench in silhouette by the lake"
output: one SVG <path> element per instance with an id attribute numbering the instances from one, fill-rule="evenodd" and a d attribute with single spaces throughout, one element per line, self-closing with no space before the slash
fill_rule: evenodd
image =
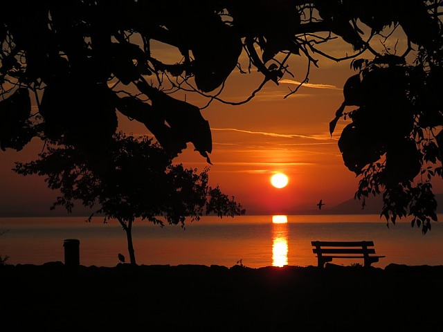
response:
<path id="1" fill-rule="evenodd" d="M 376 256 L 373 241 L 311 241 L 312 252 L 317 255 L 318 267 L 323 268 L 334 258 L 363 259 L 368 267 L 385 256 Z M 372 247 L 372 248 L 371 248 Z"/>

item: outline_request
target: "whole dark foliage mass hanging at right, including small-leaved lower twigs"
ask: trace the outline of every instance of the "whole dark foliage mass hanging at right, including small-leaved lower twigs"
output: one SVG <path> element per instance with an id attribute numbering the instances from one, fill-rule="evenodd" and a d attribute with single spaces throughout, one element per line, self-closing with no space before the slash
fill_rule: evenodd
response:
<path id="1" fill-rule="evenodd" d="M 436 220 L 430 181 L 441 174 L 441 169 L 428 165 L 442 159 L 441 131 L 435 138 L 430 135 L 442 122 L 441 105 L 430 80 L 438 70 L 428 73 L 422 66 L 407 65 L 390 55 L 353 65 L 359 69 L 361 82 L 355 81 L 359 89 L 343 93 L 353 96 L 358 91 L 358 98 L 349 103 L 345 98 L 332 123 L 345 114 L 347 104 L 358 106 L 346 113 L 352 123 L 338 140 L 345 165 L 361 176 L 356 197 L 383 192 L 381 216 L 395 223 L 412 215 L 411 225 L 426 233 L 431 220 Z"/>

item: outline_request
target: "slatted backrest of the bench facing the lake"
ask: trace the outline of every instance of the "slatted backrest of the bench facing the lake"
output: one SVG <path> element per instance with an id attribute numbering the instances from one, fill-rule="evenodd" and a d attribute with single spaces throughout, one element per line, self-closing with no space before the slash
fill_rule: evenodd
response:
<path id="1" fill-rule="evenodd" d="M 319 256 L 324 254 L 369 255 L 375 254 L 373 241 L 311 241 L 312 252 Z"/>

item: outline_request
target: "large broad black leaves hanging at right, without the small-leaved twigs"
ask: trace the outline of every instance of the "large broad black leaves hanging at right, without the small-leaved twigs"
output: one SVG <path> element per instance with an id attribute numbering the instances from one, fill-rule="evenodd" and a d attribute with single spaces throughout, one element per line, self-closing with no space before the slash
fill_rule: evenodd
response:
<path id="1" fill-rule="evenodd" d="M 403 148 L 404 142 L 409 142 L 405 139 L 413 131 L 414 116 L 413 104 L 408 100 L 407 72 L 405 67 L 372 66 L 370 71 L 363 71 L 362 80 L 360 75 L 347 80 L 343 89 L 345 100 L 329 125 L 333 130 L 345 106 L 359 107 L 349 113 L 352 124 L 343 129 L 338 140 L 345 165 L 352 172 L 361 174 L 363 167 L 377 161 L 386 151 Z M 413 149 L 404 152 L 413 154 L 411 158 L 415 160 Z"/>

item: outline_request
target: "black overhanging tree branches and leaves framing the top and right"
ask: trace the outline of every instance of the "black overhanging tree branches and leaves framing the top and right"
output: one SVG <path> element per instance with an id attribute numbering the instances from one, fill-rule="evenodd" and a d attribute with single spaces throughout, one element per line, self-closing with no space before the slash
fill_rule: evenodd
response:
<path id="1" fill-rule="evenodd" d="M 192 142 L 210 163 L 201 108 L 248 102 L 291 76 L 293 57 L 306 60 L 296 68 L 306 73 L 300 86 L 320 57 L 349 60 L 358 73 L 330 131 L 351 122 L 338 147 L 361 179 L 356 198 L 383 193 L 386 219 L 413 214 L 426 232 L 436 220 L 431 179 L 442 176 L 442 8 L 443 0 L 15 1 L 0 14 L 0 147 L 63 137 L 100 160 L 120 113 L 145 124 L 172 156 Z M 336 40 L 352 51 L 329 54 L 323 46 Z M 159 58 L 156 42 L 181 59 Z M 233 71 L 262 75 L 235 102 L 221 98 Z M 196 107 L 184 93 L 207 103 Z"/>

